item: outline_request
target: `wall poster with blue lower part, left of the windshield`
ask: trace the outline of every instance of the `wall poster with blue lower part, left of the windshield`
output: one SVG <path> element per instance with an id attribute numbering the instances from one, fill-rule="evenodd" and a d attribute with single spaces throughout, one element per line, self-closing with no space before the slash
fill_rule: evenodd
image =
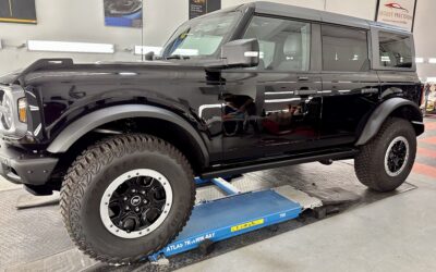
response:
<path id="1" fill-rule="evenodd" d="M 143 26 L 142 0 L 104 0 L 105 25 L 137 27 Z"/>

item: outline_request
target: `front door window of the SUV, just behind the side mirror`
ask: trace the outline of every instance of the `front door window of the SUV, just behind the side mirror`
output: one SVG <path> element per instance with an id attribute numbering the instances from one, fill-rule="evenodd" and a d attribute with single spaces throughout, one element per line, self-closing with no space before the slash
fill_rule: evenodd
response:
<path id="1" fill-rule="evenodd" d="M 254 16 L 244 38 L 261 47 L 258 70 L 307 71 L 311 57 L 311 24 Z"/>

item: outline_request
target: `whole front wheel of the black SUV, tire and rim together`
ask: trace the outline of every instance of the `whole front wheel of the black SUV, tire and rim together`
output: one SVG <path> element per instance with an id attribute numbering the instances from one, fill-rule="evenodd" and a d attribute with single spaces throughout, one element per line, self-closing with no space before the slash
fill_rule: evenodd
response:
<path id="1" fill-rule="evenodd" d="M 133 134 L 105 139 L 76 159 L 61 189 L 61 212 L 85 254 L 131 263 L 173 239 L 194 200 L 185 157 L 162 139 Z"/>

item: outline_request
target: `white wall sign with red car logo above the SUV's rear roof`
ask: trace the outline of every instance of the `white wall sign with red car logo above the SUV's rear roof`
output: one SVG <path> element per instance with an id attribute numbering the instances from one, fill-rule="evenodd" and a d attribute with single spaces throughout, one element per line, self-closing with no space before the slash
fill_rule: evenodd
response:
<path id="1" fill-rule="evenodd" d="M 412 30 L 416 0 L 379 0 L 377 22 Z"/>

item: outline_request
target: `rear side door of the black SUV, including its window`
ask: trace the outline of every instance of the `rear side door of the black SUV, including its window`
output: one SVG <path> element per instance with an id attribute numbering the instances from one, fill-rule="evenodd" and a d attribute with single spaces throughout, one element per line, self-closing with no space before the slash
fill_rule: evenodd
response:
<path id="1" fill-rule="evenodd" d="M 371 70 L 368 40 L 368 29 L 322 26 L 323 146 L 353 143 L 378 100 L 379 81 Z"/>

